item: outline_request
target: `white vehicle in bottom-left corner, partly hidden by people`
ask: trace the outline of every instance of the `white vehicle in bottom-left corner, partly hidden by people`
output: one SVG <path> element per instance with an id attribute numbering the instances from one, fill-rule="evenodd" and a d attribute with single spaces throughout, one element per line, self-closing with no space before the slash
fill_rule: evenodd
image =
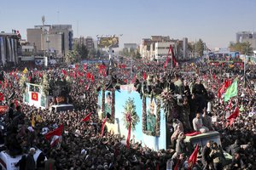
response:
<path id="1" fill-rule="evenodd" d="M 34 155 L 34 160 L 37 162 L 38 156 L 41 153 L 41 150 L 36 150 Z M 15 167 L 15 164 L 20 161 L 22 155 L 19 156 L 9 156 L 9 154 L 4 150 L 0 152 L 0 167 L 3 170 L 19 170 L 19 167 Z"/>

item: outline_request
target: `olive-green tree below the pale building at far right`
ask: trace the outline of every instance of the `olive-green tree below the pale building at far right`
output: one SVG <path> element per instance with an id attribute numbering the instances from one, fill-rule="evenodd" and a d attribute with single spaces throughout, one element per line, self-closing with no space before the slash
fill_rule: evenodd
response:
<path id="1" fill-rule="evenodd" d="M 253 54 L 253 48 L 249 42 L 230 43 L 230 51 L 238 51 L 240 54 Z"/>

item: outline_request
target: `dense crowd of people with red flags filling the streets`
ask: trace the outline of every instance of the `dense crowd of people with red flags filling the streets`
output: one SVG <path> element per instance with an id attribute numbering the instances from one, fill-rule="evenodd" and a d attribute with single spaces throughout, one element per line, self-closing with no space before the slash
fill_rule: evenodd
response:
<path id="1" fill-rule="evenodd" d="M 2 150 L 8 150 L 10 156 L 23 155 L 15 166 L 20 167 L 20 170 L 189 169 L 188 159 L 194 149 L 184 144 L 185 133 L 215 130 L 221 135 L 222 145 L 207 142 L 201 148 L 201 160 L 195 163 L 194 169 L 256 168 L 255 65 L 247 67 L 244 81 L 241 65 L 208 65 L 199 62 L 165 69 L 154 61 L 137 60 L 132 62 L 133 65 L 130 65 L 129 59 L 122 62 L 115 65 L 109 73 L 111 76 L 104 72 L 108 70 L 108 65 L 104 67 L 97 64 L 80 65 L 75 69 L 29 68 L 26 73 L 22 72 L 24 68 L 4 71 L 0 88 L 2 85 L 1 93 L 5 97 L 1 105 L 9 105 L 9 111 L 2 115 L 7 129 L 6 135 L 1 132 L 1 139 L 5 143 Z M 55 113 L 23 104 L 21 77 L 25 75 L 30 77 L 29 81 L 39 83 L 43 81 L 44 74 L 53 80 L 70 79 L 68 95 L 69 102 L 75 106 L 73 111 Z M 236 77 L 239 80 L 238 94 L 229 102 L 224 102 L 223 97 L 218 98 L 218 88 L 227 78 L 234 80 Z M 97 94 L 102 83 L 111 88 L 117 87 L 111 86 L 110 81 L 142 83 L 146 89 L 148 86 L 160 89 L 160 92 L 153 90 L 156 94 L 168 88 L 172 96 L 176 96 L 173 98 L 175 105 L 167 114 L 167 127 L 171 132 L 170 148 L 151 150 L 133 139 L 130 148 L 127 148 L 121 142 L 124 137 L 108 132 L 107 128 L 101 136 L 102 120 L 96 112 Z M 246 86 L 244 82 L 247 82 Z M 139 92 L 142 93 L 142 90 Z M 240 114 L 229 124 L 227 117 L 236 106 Z M 93 113 L 90 120 L 81 122 L 89 113 Z M 60 125 L 64 126 L 63 133 L 58 143 L 52 145 L 50 140 L 45 139 L 45 134 Z M 42 150 L 38 160 L 32 158 L 36 150 Z M 227 165 L 224 164 L 224 151 L 233 157 Z"/>

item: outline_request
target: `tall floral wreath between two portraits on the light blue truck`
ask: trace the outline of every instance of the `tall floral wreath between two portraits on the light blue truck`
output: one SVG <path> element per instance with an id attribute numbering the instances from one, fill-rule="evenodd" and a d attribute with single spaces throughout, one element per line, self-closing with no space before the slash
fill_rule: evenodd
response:
<path id="1" fill-rule="evenodd" d="M 140 122 L 139 116 L 137 116 L 136 105 L 134 105 L 134 99 L 127 99 L 124 105 L 125 111 L 123 121 L 124 125 L 127 129 L 129 129 L 129 125 L 131 122 L 131 129 L 135 130 L 135 127 L 138 122 Z"/>

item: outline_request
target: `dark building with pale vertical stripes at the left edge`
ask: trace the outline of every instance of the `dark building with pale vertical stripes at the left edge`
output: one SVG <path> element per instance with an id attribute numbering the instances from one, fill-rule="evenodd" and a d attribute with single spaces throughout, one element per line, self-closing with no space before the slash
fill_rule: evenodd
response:
<path id="1" fill-rule="evenodd" d="M 0 33 L 0 65 L 19 64 L 20 37 L 15 33 Z"/>

